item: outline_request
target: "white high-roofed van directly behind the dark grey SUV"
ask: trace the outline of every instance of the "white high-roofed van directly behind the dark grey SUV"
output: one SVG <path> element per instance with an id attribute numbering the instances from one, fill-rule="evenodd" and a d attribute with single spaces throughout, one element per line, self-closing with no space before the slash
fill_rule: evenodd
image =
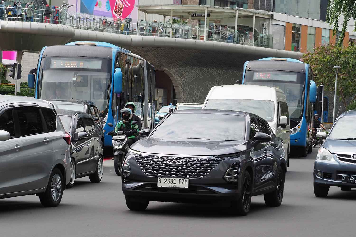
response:
<path id="1" fill-rule="evenodd" d="M 282 90 L 258 85 L 214 86 L 205 98 L 203 109 L 243 111 L 265 119 L 273 133 L 284 140 L 289 166 L 289 113 Z"/>

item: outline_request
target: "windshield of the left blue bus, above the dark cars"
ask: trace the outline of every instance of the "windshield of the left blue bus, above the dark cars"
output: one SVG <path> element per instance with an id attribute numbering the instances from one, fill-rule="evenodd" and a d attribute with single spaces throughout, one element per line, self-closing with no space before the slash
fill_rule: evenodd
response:
<path id="1" fill-rule="evenodd" d="M 38 98 L 92 101 L 101 114 L 106 114 L 111 64 L 112 60 L 102 58 L 42 58 Z"/>

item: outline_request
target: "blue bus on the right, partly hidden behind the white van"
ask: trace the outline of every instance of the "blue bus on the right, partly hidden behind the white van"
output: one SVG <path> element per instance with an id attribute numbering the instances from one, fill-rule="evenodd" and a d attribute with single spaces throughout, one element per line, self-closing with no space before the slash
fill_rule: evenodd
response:
<path id="1" fill-rule="evenodd" d="M 286 94 L 290 146 L 302 156 L 312 152 L 316 85 L 309 64 L 290 58 L 263 58 L 244 64 L 242 84 L 276 87 Z"/>

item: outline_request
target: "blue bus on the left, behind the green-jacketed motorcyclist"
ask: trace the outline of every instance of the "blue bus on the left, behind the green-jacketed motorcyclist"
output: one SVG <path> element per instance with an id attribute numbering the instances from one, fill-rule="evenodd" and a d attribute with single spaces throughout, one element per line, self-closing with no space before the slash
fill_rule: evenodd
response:
<path id="1" fill-rule="evenodd" d="M 36 75 L 34 75 L 36 74 Z M 28 75 L 28 87 L 38 99 L 92 101 L 105 121 L 104 146 L 112 146 L 112 128 L 120 109 L 132 101 L 142 128 L 153 128 L 155 118 L 155 69 L 129 50 L 105 42 L 71 42 L 41 50 L 37 69 Z"/>

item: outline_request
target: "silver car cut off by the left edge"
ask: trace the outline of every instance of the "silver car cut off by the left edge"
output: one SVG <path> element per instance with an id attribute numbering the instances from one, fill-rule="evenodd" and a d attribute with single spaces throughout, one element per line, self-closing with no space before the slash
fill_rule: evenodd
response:
<path id="1" fill-rule="evenodd" d="M 0 199 L 36 194 L 57 206 L 70 181 L 69 144 L 52 104 L 0 95 Z"/>

